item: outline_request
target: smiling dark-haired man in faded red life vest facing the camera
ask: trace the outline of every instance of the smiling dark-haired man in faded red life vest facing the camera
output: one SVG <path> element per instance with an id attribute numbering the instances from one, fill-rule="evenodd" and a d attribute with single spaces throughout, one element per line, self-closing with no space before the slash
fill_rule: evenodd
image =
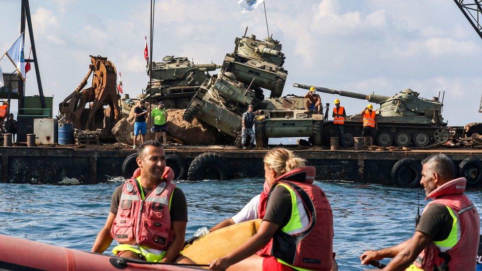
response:
<path id="1" fill-rule="evenodd" d="M 92 252 L 104 252 L 113 239 L 116 256 L 149 262 L 174 262 L 184 246 L 187 204 L 183 192 L 171 183 L 174 172 L 166 167 L 158 141 L 146 141 L 137 151 L 139 168 L 112 195 L 104 228 Z M 188 263 L 187 258 L 178 261 Z M 189 261 L 189 263 L 191 263 Z"/>

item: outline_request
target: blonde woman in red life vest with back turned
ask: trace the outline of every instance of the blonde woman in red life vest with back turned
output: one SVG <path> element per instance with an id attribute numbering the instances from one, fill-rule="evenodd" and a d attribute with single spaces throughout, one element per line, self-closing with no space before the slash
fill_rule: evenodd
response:
<path id="1" fill-rule="evenodd" d="M 321 270 L 333 267 L 333 215 L 316 171 L 293 152 L 276 148 L 264 159 L 266 199 L 259 230 L 212 270 Z M 267 191 L 268 190 L 268 191 Z"/>

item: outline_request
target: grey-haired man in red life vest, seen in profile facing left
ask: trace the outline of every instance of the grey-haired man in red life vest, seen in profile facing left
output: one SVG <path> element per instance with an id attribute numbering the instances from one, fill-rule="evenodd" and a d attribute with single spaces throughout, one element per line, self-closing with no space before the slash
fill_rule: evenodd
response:
<path id="1" fill-rule="evenodd" d="M 413 236 L 389 248 L 367 250 L 361 264 L 394 258 L 383 270 L 475 271 L 479 246 L 480 218 L 477 209 L 464 195 L 466 180 L 454 176 L 452 160 L 443 154 L 422 161 L 420 183 L 428 198 L 433 198 L 416 222 Z"/>

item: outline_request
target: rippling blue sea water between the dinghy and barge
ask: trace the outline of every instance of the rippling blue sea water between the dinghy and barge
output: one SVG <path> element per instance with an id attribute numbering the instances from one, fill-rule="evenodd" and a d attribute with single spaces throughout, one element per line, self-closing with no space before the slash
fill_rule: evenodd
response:
<path id="1" fill-rule="evenodd" d="M 188 201 L 186 238 L 198 228 L 234 215 L 262 190 L 262 183 L 260 179 L 177 183 Z M 111 195 L 120 184 L 0 184 L 0 233 L 90 251 L 105 223 Z M 364 250 L 395 245 L 413 234 L 416 190 L 352 183 L 317 185 L 333 208 L 334 251 L 340 270 L 363 270 L 359 256 Z M 482 192 L 467 194 L 482 213 Z M 421 201 L 422 208 L 426 203 Z"/>

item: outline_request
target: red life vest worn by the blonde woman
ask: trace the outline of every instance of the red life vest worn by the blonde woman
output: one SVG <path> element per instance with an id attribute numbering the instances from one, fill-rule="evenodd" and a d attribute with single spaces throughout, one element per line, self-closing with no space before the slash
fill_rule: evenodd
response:
<path id="1" fill-rule="evenodd" d="M 270 242 L 257 254 L 272 255 L 289 265 L 310 270 L 331 270 L 333 260 L 333 214 L 323 190 L 313 185 L 313 166 L 293 169 L 279 177 L 271 191 L 280 184 L 289 186 L 301 199 L 308 225 L 300 232 L 278 229 Z M 269 194 L 261 193 L 258 217 L 263 219 Z"/>

